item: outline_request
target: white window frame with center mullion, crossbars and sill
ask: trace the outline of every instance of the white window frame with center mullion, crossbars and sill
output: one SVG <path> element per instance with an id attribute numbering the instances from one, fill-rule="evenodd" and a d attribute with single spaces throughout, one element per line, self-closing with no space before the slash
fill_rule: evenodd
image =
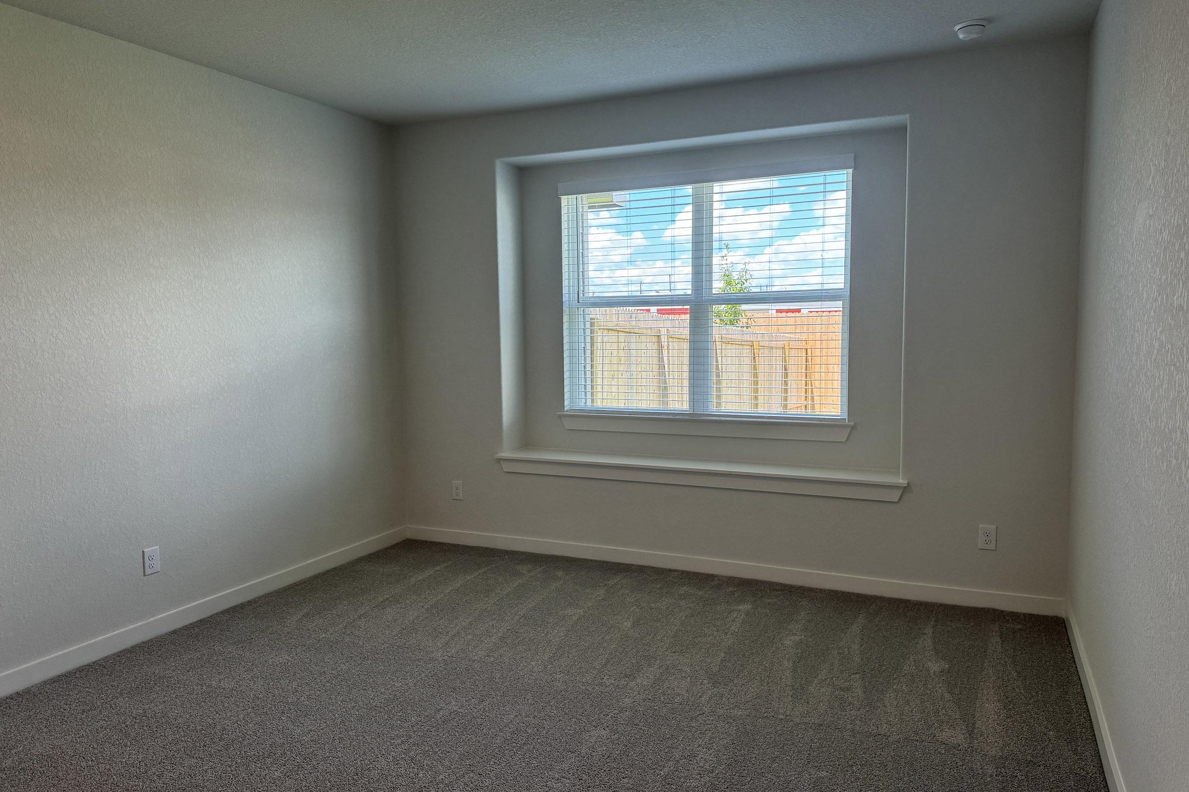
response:
<path id="1" fill-rule="evenodd" d="M 774 439 L 845 441 L 849 422 L 849 324 L 850 324 L 850 230 L 854 204 L 854 156 L 828 157 L 794 163 L 748 167 L 716 169 L 597 182 L 570 182 L 558 185 L 562 201 L 562 312 L 564 344 L 577 349 L 586 361 L 581 374 L 572 370 L 571 355 L 565 360 L 565 410 L 559 413 L 567 429 L 634 431 L 647 433 L 703 435 L 721 437 L 756 437 Z M 715 293 L 713 194 L 715 184 L 747 178 L 804 176 L 822 172 L 847 172 L 847 242 L 842 289 L 785 290 L 740 294 Z M 644 294 L 623 297 L 584 297 L 586 274 L 584 240 L 586 211 L 581 202 L 593 192 L 622 192 L 663 186 L 690 186 L 692 191 L 691 290 L 682 294 Z M 566 216 L 577 218 L 567 230 Z M 713 318 L 712 306 L 747 302 L 756 304 L 842 305 L 842 365 L 839 416 L 814 413 L 772 413 L 716 411 L 713 405 Z M 600 407 L 589 404 L 590 328 L 585 309 L 590 308 L 663 308 L 690 309 L 690 410 L 650 410 L 647 407 Z"/>

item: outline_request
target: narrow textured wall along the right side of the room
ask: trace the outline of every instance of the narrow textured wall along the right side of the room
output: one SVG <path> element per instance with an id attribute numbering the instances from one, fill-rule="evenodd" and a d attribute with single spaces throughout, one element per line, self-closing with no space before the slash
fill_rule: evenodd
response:
<path id="1" fill-rule="evenodd" d="M 1189 15 L 1181 0 L 1107 0 L 1090 101 L 1070 606 L 1127 788 L 1183 791 Z"/>

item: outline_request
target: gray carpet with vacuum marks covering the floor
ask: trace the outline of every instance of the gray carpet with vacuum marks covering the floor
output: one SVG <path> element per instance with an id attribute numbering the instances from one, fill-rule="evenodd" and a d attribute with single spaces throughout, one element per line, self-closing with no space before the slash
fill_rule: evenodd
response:
<path id="1" fill-rule="evenodd" d="M 1058 619 L 407 541 L 0 699 L 0 788 L 1106 790 Z"/>

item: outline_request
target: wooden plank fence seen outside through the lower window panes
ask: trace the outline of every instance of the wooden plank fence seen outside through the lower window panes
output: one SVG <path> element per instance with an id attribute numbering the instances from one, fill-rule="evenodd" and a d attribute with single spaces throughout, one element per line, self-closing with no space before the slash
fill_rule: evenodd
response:
<path id="1" fill-rule="evenodd" d="M 688 316 L 606 309 L 590 318 L 593 406 L 688 410 Z M 715 325 L 715 410 L 841 413 L 841 311 L 757 311 L 743 322 Z"/>

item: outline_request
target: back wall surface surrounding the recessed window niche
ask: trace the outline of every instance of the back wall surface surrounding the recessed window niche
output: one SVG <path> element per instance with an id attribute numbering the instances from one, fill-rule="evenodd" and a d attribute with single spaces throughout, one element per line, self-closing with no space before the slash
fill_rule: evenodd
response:
<path id="1" fill-rule="evenodd" d="M 1071 38 L 400 129 L 410 522 L 1063 597 L 1086 62 Z M 899 503 L 502 473 L 497 159 L 898 115 Z"/>

